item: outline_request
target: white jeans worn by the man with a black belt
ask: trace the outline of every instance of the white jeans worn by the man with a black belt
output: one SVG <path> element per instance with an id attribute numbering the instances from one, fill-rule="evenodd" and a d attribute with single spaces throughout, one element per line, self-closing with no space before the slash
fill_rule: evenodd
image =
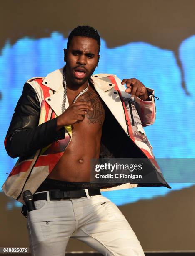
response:
<path id="1" fill-rule="evenodd" d="M 47 192 L 47 198 L 35 201 L 36 210 L 28 212 L 32 256 L 64 256 L 70 237 L 105 256 L 144 256 L 128 221 L 106 197 L 50 201 Z"/>

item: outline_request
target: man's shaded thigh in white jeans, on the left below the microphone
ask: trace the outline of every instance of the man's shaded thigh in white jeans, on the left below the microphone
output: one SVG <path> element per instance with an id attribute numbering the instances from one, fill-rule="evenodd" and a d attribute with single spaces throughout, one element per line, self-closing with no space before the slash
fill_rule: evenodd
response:
<path id="1" fill-rule="evenodd" d="M 71 201 L 35 201 L 28 212 L 27 228 L 32 256 L 64 256 L 75 231 Z"/>

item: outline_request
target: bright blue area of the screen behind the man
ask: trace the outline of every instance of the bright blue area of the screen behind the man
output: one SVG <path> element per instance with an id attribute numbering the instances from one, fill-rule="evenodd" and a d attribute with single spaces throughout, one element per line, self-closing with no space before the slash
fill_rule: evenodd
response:
<path id="1" fill-rule="evenodd" d="M 0 187 L 17 159 L 11 159 L 3 147 L 4 138 L 14 108 L 25 81 L 31 77 L 45 77 L 61 68 L 63 48 L 67 38 L 53 32 L 50 38 L 21 38 L 15 44 L 5 44 L 0 56 Z M 102 39 L 100 62 L 95 73 L 116 74 L 120 79 L 135 77 L 146 87 L 155 90 L 157 118 L 145 128 L 156 158 L 193 158 L 195 156 L 195 36 L 186 38 L 178 49 L 184 81 L 190 95 L 182 87 L 182 71 L 173 51 L 161 49 L 145 42 L 134 42 L 109 49 Z M 186 170 L 188 172 L 188 170 Z M 144 187 L 102 192 L 117 205 L 140 199 L 165 196 L 173 190 L 190 187 L 193 183 L 170 184 L 165 187 Z M 19 202 L 7 205 L 21 206 Z"/>

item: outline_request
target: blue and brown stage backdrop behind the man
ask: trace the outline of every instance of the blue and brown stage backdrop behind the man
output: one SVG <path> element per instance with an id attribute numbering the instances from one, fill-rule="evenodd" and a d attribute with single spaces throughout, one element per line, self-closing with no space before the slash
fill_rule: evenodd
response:
<path id="1" fill-rule="evenodd" d="M 3 144 L 25 81 L 63 67 L 68 34 L 77 25 L 90 25 L 101 36 L 95 73 L 135 77 L 155 90 L 157 117 L 145 131 L 172 187 L 102 195 L 120 207 L 144 250 L 195 250 L 191 203 L 195 195 L 195 2 L 143 0 L 119 5 L 118 1 L 58 0 L 53 4 L 45 0 L 1 3 L 0 187 L 17 161 L 7 155 Z M 2 192 L 0 204 L 0 246 L 28 246 L 21 204 Z M 9 239 L 6 233 L 11 233 Z M 68 250 L 72 249 L 92 250 L 70 240 Z"/>

